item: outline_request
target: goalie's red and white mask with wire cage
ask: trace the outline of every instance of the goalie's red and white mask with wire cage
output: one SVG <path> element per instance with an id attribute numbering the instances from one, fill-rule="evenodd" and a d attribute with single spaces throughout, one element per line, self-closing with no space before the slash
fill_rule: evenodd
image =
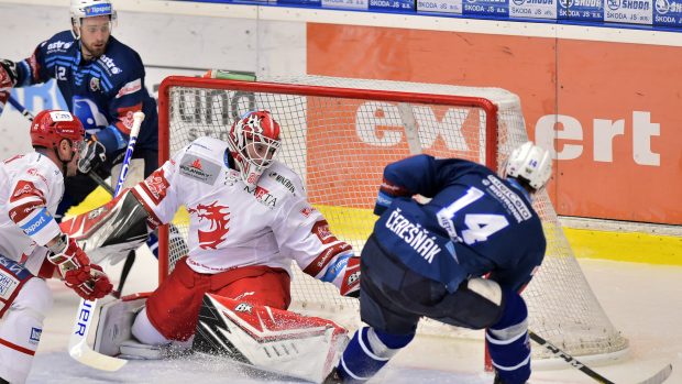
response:
<path id="1" fill-rule="evenodd" d="M 279 152 L 279 124 L 268 111 L 248 112 L 232 124 L 228 144 L 242 179 L 253 188 Z"/>

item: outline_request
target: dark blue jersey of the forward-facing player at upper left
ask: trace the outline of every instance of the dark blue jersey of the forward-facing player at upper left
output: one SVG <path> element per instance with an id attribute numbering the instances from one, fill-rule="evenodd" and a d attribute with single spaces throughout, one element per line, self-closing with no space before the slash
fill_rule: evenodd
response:
<path id="1" fill-rule="evenodd" d="M 156 150 L 158 118 L 156 101 L 144 87 L 144 66 L 140 55 L 113 36 L 103 55 L 85 61 L 80 41 L 69 31 L 41 43 L 33 55 L 18 63 L 16 86 L 45 83 L 51 78 L 89 134 L 107 147 L 108 157 L 128 144 L 133 113 L 145 114 L 136 149 Z"/>

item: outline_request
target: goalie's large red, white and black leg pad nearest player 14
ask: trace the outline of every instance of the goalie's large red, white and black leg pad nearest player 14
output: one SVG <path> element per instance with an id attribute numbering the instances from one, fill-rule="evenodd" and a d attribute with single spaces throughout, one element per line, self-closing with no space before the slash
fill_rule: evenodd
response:
<path id="1" fill-rule="evenodd" d="M 320 383 L 346 342 L 331 320 L 207 294 L 193 349 Z"/>

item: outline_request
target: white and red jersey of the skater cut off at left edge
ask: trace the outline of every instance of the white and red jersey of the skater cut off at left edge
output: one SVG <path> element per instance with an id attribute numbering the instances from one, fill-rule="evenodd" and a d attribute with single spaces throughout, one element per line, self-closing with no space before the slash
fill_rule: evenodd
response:
<path id="1" fill-rule="evenodd" d="M 53 215 L 64 195 L 64 176 L 37 152 L 0 162 L 0 254 L 24 262 L 33 274 L 50 240 L 62 233 Z"/>

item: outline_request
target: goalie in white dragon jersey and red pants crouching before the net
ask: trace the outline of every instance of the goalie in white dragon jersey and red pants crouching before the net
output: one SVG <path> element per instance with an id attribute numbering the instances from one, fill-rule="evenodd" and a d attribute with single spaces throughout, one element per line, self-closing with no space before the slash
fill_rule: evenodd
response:
<path id="1" fill-rule="evenodd" d="M 359 257 L 308 202 L 300 177 L 274 160 L 279 131 L 267 111 L 242 117 L 228 139 L 197 139 L 128 193 L 147 227 L 186 207 L 189 251 L 146 301 L 103 307 L 96 349 L 163 356 L 164 348 L 194 341 L 196 350 L 320 381 L 345 331 L 286 310 L 292 262 L 340 295 L 356 296 Z M 271 360 L 256 359 L 265 351 Z M 298 362 L 289 363 L 287 353 Z M 302 372 L 302 360 L 312 356 L 316 371 Z"/>

